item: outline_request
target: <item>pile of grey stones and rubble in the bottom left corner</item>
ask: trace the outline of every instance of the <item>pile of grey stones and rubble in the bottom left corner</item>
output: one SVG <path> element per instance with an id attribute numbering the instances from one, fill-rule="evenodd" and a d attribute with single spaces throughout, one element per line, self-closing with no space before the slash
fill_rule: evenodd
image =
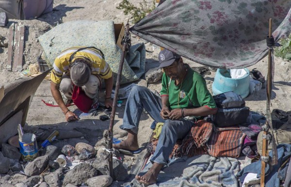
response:
<path id="1" fill-rule="evenodd" d="M 22 160 L 18 148 L 2 144 L 0 152 L 0 185 L 5 187 L 108 187 L 124 181 L 127 173 L 122 161 L 113 159 L 113 182 L 109 176 L 108 151 L 78 143 L 62 149 L 49 145 L 31 162 Z M 118 157 L 114 153 L 114 158 Z M 65 158 L 65 164 L 57 158 Z M 98 185 L 97 185 L 98 184 Z"/>

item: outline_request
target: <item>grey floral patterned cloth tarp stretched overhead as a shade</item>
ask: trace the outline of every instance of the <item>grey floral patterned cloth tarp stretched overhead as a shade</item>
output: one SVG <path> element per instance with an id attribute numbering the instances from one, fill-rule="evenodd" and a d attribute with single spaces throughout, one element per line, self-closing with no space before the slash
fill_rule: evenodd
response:
<path id="1" fill-rule="evenodd" d="M 165 0 L 130 28 L 200 64 L 244 68 L 267 55 L 269 18 L 277 42 L 291 31 L 291 0 Z"/>

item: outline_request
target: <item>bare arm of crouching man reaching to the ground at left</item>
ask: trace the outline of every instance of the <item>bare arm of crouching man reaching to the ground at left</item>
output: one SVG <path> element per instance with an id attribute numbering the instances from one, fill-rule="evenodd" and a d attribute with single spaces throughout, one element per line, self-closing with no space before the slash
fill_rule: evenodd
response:
<path id="1" fill-rule="evenodd" d="M 50 82 L 50 91 L 52 94 L 53 99 L 58 103 L 60 106 L 62 112 L 65 114 L 65 119 L 67 121 L 75 121 L 78 120 L 78 116 L 71 112 L 67 106 L 65 105 L 65 102 L 63 101 L 61 92 L 59 90 L 59 85 L 53 83 L 52 81 Z"/>

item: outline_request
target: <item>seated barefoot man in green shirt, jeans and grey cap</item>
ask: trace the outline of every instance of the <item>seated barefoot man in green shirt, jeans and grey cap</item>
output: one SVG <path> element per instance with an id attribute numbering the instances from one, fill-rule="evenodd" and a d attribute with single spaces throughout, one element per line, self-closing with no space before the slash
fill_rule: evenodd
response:
<path id="1" fill-rule="evenodd" d="M 157 122 L 163 122 L 159 143 L 151 161 L 153 166 L 135 179 L 146 185 L 157 182 L 162 167 L 168 164 L 169 156 L 177 139 L 184 138 L 194 126 L 199 116 L 216 114 L 215 102 L 207 89 L 204 78 L 183 63 L 183 59 L 169 51 L 159 54 L 162 77 L 161 98 L 143 86 L 134 86 L 129 94 L 121 129 L 128 130 L 128 138 L 114 148 L 135 151 L 139 148 L 137 140 L 138 125 L 143 109 Z M 194 117 L 194 121 L 189 119 Z"/>

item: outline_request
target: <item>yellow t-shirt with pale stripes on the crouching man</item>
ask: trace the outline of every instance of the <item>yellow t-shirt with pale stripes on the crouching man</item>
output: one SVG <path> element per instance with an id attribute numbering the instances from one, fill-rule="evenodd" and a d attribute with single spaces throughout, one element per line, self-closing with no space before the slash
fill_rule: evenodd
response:
<path id="1" fill-rule="evenodd" d="M 50 74 L 50 80 L 55 84 L 60 84 L 64 73 L 70 74 L 69 66 L 74 62 L 76 58 L 89 59 L 89 65 L 91 66 L 91 73 L 98 74 L 103 79 L 109 79 L 112 77 L 112 70 L 109 64 L 102 58 L 98 50 L 94 48 L 87 48 L 78 51 L 72 62 L 69 63 L 71 55 L 78 49 L 83 47 L 71 47 L 63 51 L 54 61 L 53 70 Z"/>

